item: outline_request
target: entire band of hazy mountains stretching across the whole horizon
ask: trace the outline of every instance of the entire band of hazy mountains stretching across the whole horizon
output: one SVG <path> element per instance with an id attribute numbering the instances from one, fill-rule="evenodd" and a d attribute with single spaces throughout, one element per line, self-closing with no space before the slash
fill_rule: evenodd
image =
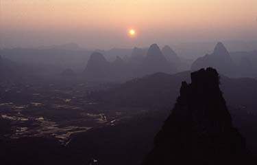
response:
<path id="1" fill-rule="evenodd" d="M 38 72 L 38 76 L 45 78 L 60 77 L 64 70 L 72 69 L 79 78 L 85 78 L 89 81 L 124 82 L 157 72 L 173 74 L 186 71 L 190 69 L 191 63 L 193 63 L 192 70 L 215 67 L 225 76 L 257 78 L 257 51 L 228 52 L 223 43 L 217 43 L 211 54 L 206 54 L 195 61 L 185 60 L 168 45 L 162 47 L 161 50 L 158 45 L 153 44 L 149 49 L 114 48 L 108 51 L 97 50 L 95 52 L 100 53 L 105 58 L 105 64 L 101 61 L 99 64 L 97 61 L 92 63 L 90 58 L 94 52 L 85 50 L 75 43 L 33 49 L 0 50 L 2 58 L 12 61 L 16 65 L 31 67 L 33 69 L 28 70 Z M 101 74 L 100 67 L 103 72 Z M 93 76 L 88 76 L 89 74 Z"/>

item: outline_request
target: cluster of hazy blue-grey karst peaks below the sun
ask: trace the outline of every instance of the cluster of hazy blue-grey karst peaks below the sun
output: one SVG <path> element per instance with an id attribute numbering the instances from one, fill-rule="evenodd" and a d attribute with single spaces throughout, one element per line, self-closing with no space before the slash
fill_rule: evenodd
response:
<path id="1" fill-rule="evenodd" d="M 175 73 L 177 69 L 173 64 L 176 61 L 171 63 L 171 60 L 175 58 L 180 61 L 180 59 L 171 48 L 165 49 L 167 57 L 162 54 L 156 44 L 151 45 L 147 52 L 135 47 L 128 61 L 117 56 L 114 62 L 109 62 L 103 54 L 94 52 L 90 56 L 84 73 L 88 80 L 99 81 L 129 80 L 133 77 L 141 77 L 156 72 Z"/>

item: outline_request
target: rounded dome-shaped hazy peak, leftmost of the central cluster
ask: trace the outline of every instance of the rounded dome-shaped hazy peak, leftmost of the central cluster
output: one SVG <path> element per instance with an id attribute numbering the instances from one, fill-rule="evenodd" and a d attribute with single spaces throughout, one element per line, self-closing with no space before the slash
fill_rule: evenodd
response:
<path id="1" fill-rule="evenodd" d="M 110 79 L 110 63 L 106 61 L 103 54 L 93 52 L 91 54 L 84 74 L 88 80 L 106 81 Z"/>

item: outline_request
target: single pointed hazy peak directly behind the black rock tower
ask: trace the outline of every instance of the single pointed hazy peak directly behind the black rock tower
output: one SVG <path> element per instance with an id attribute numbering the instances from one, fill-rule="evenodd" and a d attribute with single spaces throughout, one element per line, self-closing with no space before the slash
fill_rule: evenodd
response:
<path id="1" fill-rule="evenodd" d="M 236 66 L 234 65 L 230 53 L 223 43 L 217 43 L 212 54 L 197 58 L 192 64 L 191 69 L 197 70 L 203 67 L 215 67 L 218 72 L 226 76 L 236 75 Z"/>

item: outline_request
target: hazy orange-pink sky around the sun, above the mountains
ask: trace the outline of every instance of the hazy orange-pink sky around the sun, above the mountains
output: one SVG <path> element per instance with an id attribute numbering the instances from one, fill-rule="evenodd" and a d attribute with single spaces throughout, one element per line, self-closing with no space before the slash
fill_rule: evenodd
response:
<path id="1" fill-rule="evenodd" d="M 256 40 L 256 0 L 0 0 L 1 47 Z M 130 28 L 136 37 L 128 36 Z"/>

